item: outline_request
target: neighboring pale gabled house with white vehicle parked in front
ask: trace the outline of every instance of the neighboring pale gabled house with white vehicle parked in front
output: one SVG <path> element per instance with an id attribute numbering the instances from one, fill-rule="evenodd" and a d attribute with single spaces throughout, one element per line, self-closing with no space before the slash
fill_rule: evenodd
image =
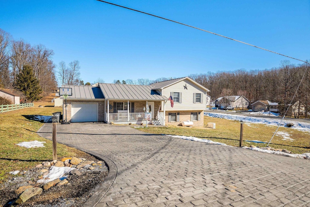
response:
<path id="1" fill-rule="evenodd" d="M 244 109 L 249 106 L 249 100 L 242 96 L 224 96 L 215 100 L 215 107 L 232 106 L 234 109 Z"/>

